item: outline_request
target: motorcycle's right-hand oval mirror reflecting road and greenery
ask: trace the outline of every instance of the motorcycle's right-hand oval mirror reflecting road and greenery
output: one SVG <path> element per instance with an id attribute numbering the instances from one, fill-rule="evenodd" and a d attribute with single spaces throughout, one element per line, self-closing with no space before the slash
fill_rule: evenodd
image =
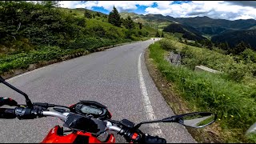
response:
<path id="1" fill-rule="evenodd" d="M 206 113 L 206 112 L 197 112 L 190 114 L 183 114 L 178 118 L 178 123 L 183 126 L 190 126 L 194 128 L 201 128 L 208 126 L 211 123 L 215 122 L 217 119 L 216 114 Z"/>

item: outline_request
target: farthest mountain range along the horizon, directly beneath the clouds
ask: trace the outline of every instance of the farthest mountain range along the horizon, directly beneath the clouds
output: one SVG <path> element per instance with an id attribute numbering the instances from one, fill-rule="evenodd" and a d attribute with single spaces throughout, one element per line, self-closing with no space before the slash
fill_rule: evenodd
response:
<path id="1" fill-rule="evenodd" d="M 194 17 L 194 18 L 174 18 L 171 16 L 163 16 L 162 14 L 135 14 L 135 13 L 120 13 L 123 18 L 128 15 L 134 22 L 142 22 L 142 24 L 163 30 L 165 26 L 170 23 L 178 22 L 183 26 L 192 26 L 202 34 L 213 36 L 215 34 L 222 34 L 230 30 L 248 30 L 254 29 L 256 20 L 254 19 L 239 19 L 230 21 L 226 19 L 214 19 L 209 17 Z"/>

